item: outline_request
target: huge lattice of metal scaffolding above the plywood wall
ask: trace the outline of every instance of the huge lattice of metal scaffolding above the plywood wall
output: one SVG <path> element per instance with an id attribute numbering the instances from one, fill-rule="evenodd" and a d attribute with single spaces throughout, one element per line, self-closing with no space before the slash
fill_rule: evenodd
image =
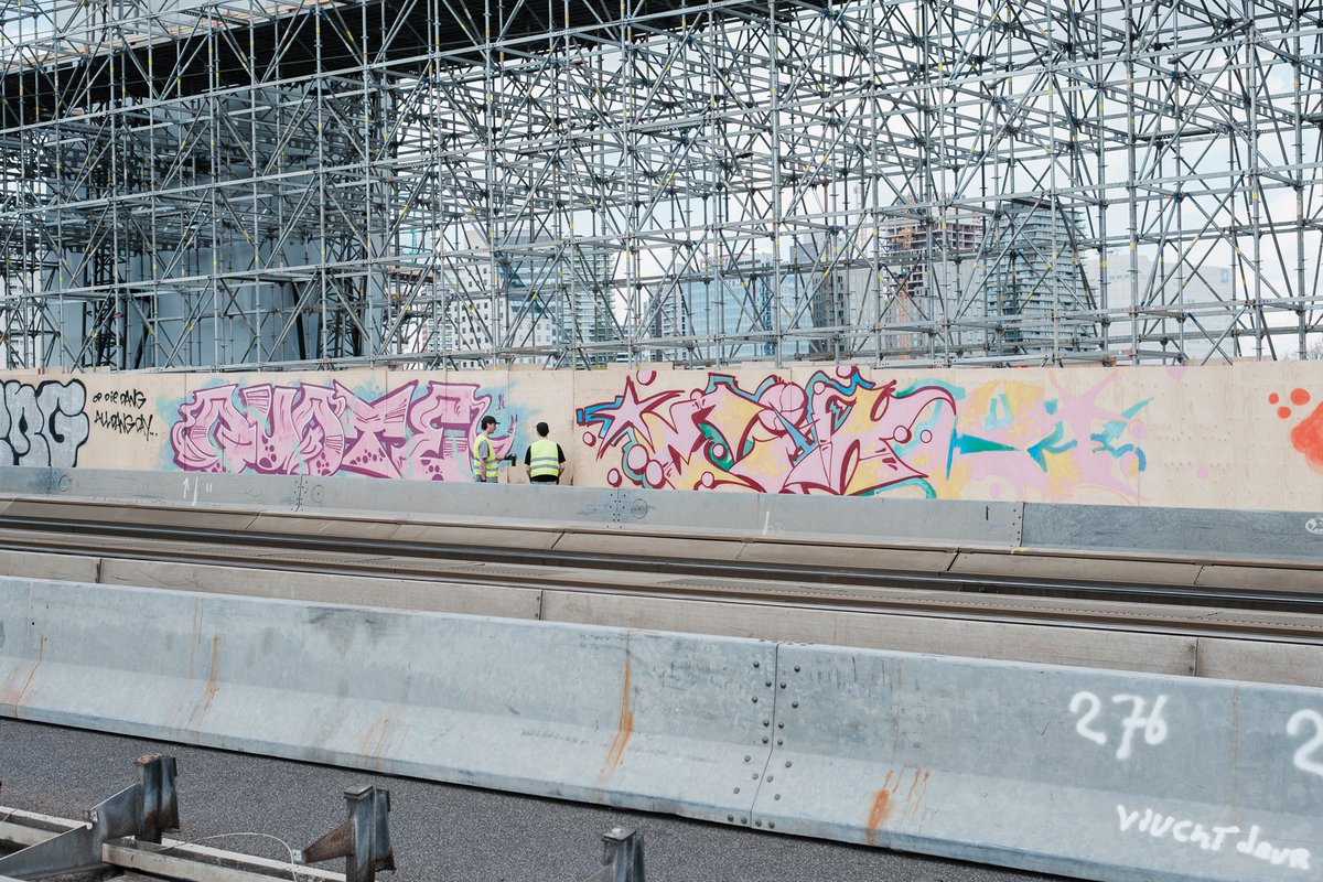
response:
<path id="1" fill-rule="evenodd" d="M 0 9 L 8 368 L 1200 364 L 1323 331 L 1302 0 Z"/>

